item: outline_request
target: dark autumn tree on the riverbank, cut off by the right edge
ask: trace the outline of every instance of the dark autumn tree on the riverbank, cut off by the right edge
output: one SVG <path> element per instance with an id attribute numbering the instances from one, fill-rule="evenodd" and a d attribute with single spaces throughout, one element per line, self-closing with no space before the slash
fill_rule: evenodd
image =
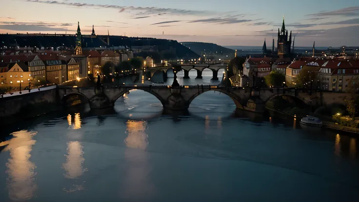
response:
<path id="1" fill-rule="evenodd" d="M 358 88 L 359 80 L 356 78 L 349 81 L 346 89 L 346 92 L 348 93 L 348 96 L 345 99 L 345 102 L 347 103 L 346 110 L 349 112 L 353 121 L 355 121 L 355 114 L 357 113 Z"/>

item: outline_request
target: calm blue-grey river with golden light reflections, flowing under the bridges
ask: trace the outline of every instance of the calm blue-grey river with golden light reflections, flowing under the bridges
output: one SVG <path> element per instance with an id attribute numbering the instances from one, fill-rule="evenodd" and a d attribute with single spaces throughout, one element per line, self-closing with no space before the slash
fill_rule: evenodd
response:
<path id="1" fill-rule="evenodd" d="M 220 82 L 193 74 L 180 84 Z M 177 115 L 131 91 L 113 110 L 84 105 L 4 128 L 0 201 L 358 201 L 358 139 L 297 125 L 214 91 Z"/>

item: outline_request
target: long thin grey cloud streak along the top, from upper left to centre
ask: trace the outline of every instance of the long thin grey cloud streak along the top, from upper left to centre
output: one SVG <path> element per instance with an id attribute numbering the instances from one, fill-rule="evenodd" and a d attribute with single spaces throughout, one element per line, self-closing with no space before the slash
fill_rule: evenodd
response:
<path id="1" fill-rule="evenodd" d="M 120 5 L 109 5 L 109 4 L 90 4 L 90 3 L 73 3 L 68 1 L 57 1 L 57 0 L 26 0 L 28 2 L 35 3 L 45 3 L 45 4 L 60 4 L 60 5 L 69 5 L 75 7 L 102 7 L 102 8 L 112 8 L 120 9 L 120 12 L 123 11 L 141 11 L 148 12 L 148 14 L 159 14 L 159 13 L 171 13 L 177 15 L 208 15 L 215 14 L 216 12 L 212 11 L 200 11 L 200 10 L 180 10 L 172 8 L 159 8 L 159 7 L 135 7 L 135 6 L 120 6 Z"/>

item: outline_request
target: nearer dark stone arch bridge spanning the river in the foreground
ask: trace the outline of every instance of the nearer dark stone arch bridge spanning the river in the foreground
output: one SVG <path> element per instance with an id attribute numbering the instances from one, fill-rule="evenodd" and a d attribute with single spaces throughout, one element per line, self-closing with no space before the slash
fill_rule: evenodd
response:
<path id="1" fill-rule="evenodd" d="M 91 108 L 106 108 L 114 105 L 115 101 L 132 89 L 139 89 L 154 95 L 162 103 L 164 109 L 185 110 L 200 94 L 207 91 L 218 91 L 228 95 L 240 109 L 264 112 L 265 103 L 276 96 L 291 96 L 300 99 L 307 104 L 321 104 L 322 99 L 316 98 L 308 93 L 299 92 L 298 89 L 290 88 L 267 88 L 252 89 L 242 87 L 224 87 L 224 86 L 152 86 L 152 85 L 123 85 L 114 87 L 58 87 L 58 94 L 61 103 L 74 95 L 82 96 L 86 99 Z M 315 93 L 314 96 L 318 95 Z M 334 95 L 338 97 L 338 95 Z M 340 100 L 344 100 L 339 98 Z M 338 101 L 338 99 L 337 99 Z M 320 103 L 321 102 L 321 103 Z M 330 102 L 330 101 L 329 101 Z"/>

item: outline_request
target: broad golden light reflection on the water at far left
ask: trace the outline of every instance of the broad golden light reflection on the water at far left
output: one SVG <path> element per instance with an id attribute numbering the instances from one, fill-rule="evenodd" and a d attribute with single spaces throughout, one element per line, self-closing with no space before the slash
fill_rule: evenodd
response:
<path id="1" fill-rule="evenodd" d="M 37 185 L 34 182 L 35 164 L 30 161 L 32 145 L 35 144 L 34 131 L 22 130 L 12 135 L 4 151 L 10 151 L 10 159 L 6 163 L 7 189 L 9 198 L 14 201 L 29 200 L 34 197 Z"/>

